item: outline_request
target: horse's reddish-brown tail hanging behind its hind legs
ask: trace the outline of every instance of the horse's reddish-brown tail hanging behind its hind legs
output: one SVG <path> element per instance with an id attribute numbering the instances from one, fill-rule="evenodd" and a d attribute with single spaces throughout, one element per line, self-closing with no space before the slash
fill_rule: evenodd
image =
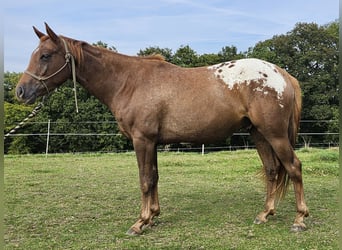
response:
<path id="1" fill-rule="evenodd" d="M 289 120 L 289 127 L 288 127 L 288 137 L 292 147 L 295 147 L 295 143 L 297 140 L 297 133 L 299 130 L 299 121 L 300 121 L 300 114 L 302 110 L 302 94 L 299 83 L 296 78 L 288 74 L 289 80 L 292 84 L 294 89 L 294 102 L 292 108 L 292 113 Z M 274 155 L 275 156 L 275 155 Z M 275 156 L 276 157 L 276 156 Z M 283 198 L 288 190 L 290 178 L 285 167 L 280 163 L 280 168 L 277 177 L 277 189 L 276 189 L 276 196 L 278 198 Z"/>

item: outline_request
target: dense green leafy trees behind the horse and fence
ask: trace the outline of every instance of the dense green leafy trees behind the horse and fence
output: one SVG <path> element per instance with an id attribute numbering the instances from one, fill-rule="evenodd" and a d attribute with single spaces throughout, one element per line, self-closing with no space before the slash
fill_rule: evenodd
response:
<path id="1" fill-rule="evenodd" d="M 327 25 L 298 23 L 286 34 L 261 41 L 245 52 L 235 46 L 225 46 L 218 53 L 198 54 L 190 46 L 169 48 L 149 47 L 138 52 L 139 56 L 161 54 L 168 62 L 182 67 L 199 67 L 241 58 L 260 58 L 279 65 L 296 77 L 303 95 L 300 132 L 338 132 L 338 22 Z M 99 41 L 94 44 L 116 51 Z M 5 133 L 24 119 L 34 106 L 24 106 L 15 100 L 14 88 L 21 73 L 6 72 L 4 77 Z M 47 132 L 51 121 L 49 152 L 89 152 L 130 150 L 132 144 L 120 135 L 115 119 L 109 110 L 82 87 L 77 87 L 79 113 L 75 111 L 73 85 L 68 81 L 58 88 L 45 102 L 40 113 L 19 133 Z M 329 122 L 326 122 L 329 121 Z M 102 122 L 102 123 L 98 123 Z M 112 134 L 112 136 L 65 136 L 57 134 Z M 326 135 L 304 138 L 307 142 L 328 143 L 338 141 L 338 136 Z M 234 137 L 218 144 L 229 146 L 246 144 L 246 139 Z M 247 139 L 248 140 L 248 139 Z M 5 140 L 5 153 L 45 152 L 46 136 L 11 136 Z"/>

